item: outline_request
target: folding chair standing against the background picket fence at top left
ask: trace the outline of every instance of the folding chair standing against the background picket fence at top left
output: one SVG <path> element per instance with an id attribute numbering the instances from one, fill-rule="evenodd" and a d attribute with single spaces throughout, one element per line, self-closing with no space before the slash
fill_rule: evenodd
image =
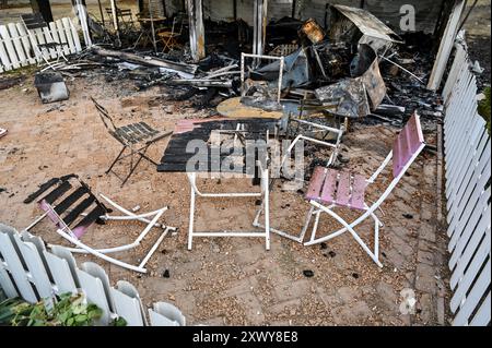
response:
<path id="1" fill-rule="evenodd" d="M 54 65 L 49 62 L 51 58 L 51 52 L 55 50 L 57 55 L 57 63 L 60 57 L 68 62 L 67 57 L 63 55 L 62 48 L 67 44 L 56 41 L 51 34 L 49 33 L 49 26 L 40 15 L 40 13 L 27 13 L 21 14 L 22 23 L 25 26 L 27 35 L 30 37 L 31 44 L 33 46 L 34 55 L 36 60 L 43 59 L 49 68 L 55 70 Z M 46 43 L 39 43 L 36 39 L 36 31 L 44 29 L 42 36 L 46 38 Z"/>

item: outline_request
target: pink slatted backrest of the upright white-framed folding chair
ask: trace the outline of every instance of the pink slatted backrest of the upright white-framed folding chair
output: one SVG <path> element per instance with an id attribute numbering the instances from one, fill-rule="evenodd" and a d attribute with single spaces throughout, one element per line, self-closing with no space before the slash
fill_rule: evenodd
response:
<path id="1" fill-rule="evenodd" d="M 420 117 L 414 112 L 393 144 L 393 176 L 395 178 L 414 159 L 424 144 Z"/>

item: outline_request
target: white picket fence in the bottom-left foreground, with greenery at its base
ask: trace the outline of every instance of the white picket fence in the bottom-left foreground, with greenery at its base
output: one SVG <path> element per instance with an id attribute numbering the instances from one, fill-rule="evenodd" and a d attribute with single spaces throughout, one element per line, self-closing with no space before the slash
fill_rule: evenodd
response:
<path id="1" fill-rule="evenodd" d="M 166 302 L 154 303 L 147 313 L 137 289 L 120 280 L 109 284 L 106 272 L 93 262 L 80 267 L 62 247 L 47 251 L 38 237 L 0 224 L 0 288 L 8 298 L 22 297 L 31 303 L 67 292 L 85 293 L 103 310 L 97 325 L 124 317 L 129 326 L 183 326 L 185 316 Z"/>

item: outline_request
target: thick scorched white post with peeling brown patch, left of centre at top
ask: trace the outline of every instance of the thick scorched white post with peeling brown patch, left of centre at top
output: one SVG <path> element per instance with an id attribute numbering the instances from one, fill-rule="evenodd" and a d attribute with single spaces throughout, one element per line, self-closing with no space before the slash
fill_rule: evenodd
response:
<path id="1" fill-rule="evenodd" d="M 203 11 L 201 0 L 187 0 L 189 16 L 189 45 L 195 62 L 206 57 Z"/>

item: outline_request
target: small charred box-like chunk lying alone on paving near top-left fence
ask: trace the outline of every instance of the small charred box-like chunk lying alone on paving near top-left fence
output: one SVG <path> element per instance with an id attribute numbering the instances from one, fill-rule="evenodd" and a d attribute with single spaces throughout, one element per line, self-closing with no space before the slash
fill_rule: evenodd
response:
<path id="1" fill-rule="evenodd" d="M 70 93 L 59 72 L 39 72 L 34 77 L 39 98 L 44 104 L 67 100 Z"/>

